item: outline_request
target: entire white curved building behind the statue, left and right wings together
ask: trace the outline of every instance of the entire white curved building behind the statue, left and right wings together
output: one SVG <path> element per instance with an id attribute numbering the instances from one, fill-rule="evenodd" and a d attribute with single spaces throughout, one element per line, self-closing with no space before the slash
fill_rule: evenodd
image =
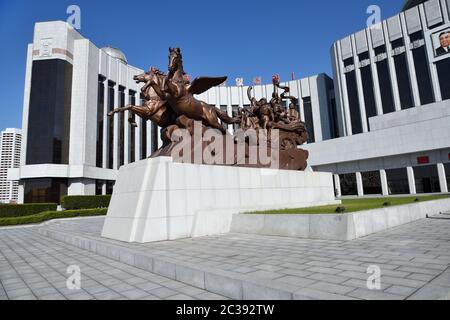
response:
<path id="1" fill-rule="evenodd" d="M 402 12 L 332 45 L 333 78 L 283 83 L 299 98 L 314 170 L 335 174 L 337 195 L 448 192 L 450 0 L 406 1 Z M 442 47 L 442 48 L 441 48 Z M 142 69 L 99 49 L 64 22 L 37 23 L 28 47 L 19 201 L 110 193 L 117 169 L 149 156 L 159 130 L 107 112 L 139 102 Z M 201 100 L 230 115 L 247 87 L 216 87 Z M 257 99 L 272 85 L 255 86 Z M 230 131 L 233 128 L 229 126 Z"/>

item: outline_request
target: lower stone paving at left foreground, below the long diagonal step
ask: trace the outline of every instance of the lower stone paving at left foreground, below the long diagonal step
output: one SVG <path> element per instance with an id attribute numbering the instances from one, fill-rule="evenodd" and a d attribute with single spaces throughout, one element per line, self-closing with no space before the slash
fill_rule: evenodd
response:
<path id="1" fill-rule="evenodd" d="M 66 273 L 81 270 L 81 289 Z M 179 281 L 39 235 L 36 228 L 0 230 L 0 300 L 226 299 Z"/>

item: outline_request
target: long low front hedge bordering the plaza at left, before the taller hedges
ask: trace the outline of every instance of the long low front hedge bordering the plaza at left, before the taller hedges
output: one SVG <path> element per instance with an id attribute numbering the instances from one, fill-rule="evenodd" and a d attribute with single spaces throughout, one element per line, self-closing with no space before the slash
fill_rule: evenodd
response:
<path id="1" fill-rule="evenodd" d="M 0 218 L 0 226 L 41 223 L 52 219 L 106 215 L 108 209 L 85 209 L 66 211 L 45 211 L 31 216 Z"/>

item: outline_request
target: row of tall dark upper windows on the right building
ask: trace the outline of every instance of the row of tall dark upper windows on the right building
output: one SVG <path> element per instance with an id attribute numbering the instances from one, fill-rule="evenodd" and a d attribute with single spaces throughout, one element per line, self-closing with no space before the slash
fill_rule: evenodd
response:
<path id="1" fill-rule="evenodd" d="M 419 31 L 410 35 L 411 41 L 417 41 L 423 39 L 423 32 Z M 409 77 L 409 68 L 413 67 L 408 65 L 404 39 L 398 39 L 392 42 L 392 48 L 395 52 L 394 68 L 396 79 L 394 81 L 398 85 L 398 92 L 400 98 L 401 109 L 408 109 L 414 106 L 413 93 L 411 88 L 411 82 Z M 396 50 L 397 49 L 397 50 Z M 401 49 L 401 50 L 398 50 Z M 408 49 L 406 49 L 408 50 Z M 377 59 L 376 70 L 378 73 L 378 82 L 381 92 L 381 105 L 383 114 L 391 113 L 395 111 L 394 93 L 392 88 L 392 79 L 390 73 L 390 67 L 387 60 L 387 55 L 390 54 L 386 51 L 386 47 L 380 46 L 375 48 L 375 55 L 382 57 Z M 433 93 L 433 86 L 431 82 L 430 70 L 426 47 L 424 45 L 417 46 L 412 49 L 412 56 L 414 61 L 414 68 L 416 73 L 416 80 L 419 88 L 420 104 L 425 105 L 435 102 Z M 369 54 L 367 52 L 359 55 L 360 61 L 367 61 Z M 353 58 L 348 58 L 344 61 L 345 67 L 354 66 L 355 61 Z M 438 80 L 441 89 L 442 99 L 450 99 L 450 58 L 438 61 L 436 63 L 436 69 L 438 73 Z M 347 84 L 347 97 L 350 109 L 350 119 L 352 125 L 352 133 L 358 134 L 363 132 L 363 124 L 361 119 L 361 111 L 358 97 L 358 86 L 356 82 L 356 71 L 354 68 L 348 69 L 349 72 L 345 74 L 345 80 Z M 369 118 L 377 115 L 374 82 L 372 69 L 370 63 L 362 64 L 360 67 L 361 82 L 362 82 L 362 96 L 364 97 L 365 111 L 367 127 L 369 127 Z"/>

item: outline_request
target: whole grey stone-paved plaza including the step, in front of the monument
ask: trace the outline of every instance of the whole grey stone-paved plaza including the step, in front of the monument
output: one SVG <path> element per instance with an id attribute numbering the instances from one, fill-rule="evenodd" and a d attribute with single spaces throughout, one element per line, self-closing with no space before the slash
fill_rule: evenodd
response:
<path id="1" fill-rule="evenodd" d="M 0 229 L 2 299 L 449 299 L 450 220 L 353 241 L 247 234 L 123 243 L 104 218 Z M 79 265 L 81 290 L 66 288 Z M 381 271 L 369 290 L 369 266 Z"/>

